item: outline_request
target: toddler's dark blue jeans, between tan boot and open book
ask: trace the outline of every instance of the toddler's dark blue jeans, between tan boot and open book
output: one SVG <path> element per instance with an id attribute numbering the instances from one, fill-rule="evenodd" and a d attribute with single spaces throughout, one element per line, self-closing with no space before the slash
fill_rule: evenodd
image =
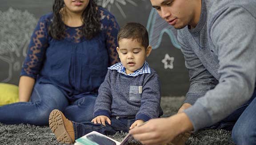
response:
<path id="1" fill-rule="evenodd" d="M 106 126 L 102 124 L 94 124 L 93 122 L 73 122 L 73 128 L 75 132 L 75 139 L 84 136 L 92 131 L 97 131 L 104 135 L 113 135 L 116 132 L 128 132 L 130 126 L 135 122 L 135 118 L 110 118 L 111 125 L 106 122 Z"/>

